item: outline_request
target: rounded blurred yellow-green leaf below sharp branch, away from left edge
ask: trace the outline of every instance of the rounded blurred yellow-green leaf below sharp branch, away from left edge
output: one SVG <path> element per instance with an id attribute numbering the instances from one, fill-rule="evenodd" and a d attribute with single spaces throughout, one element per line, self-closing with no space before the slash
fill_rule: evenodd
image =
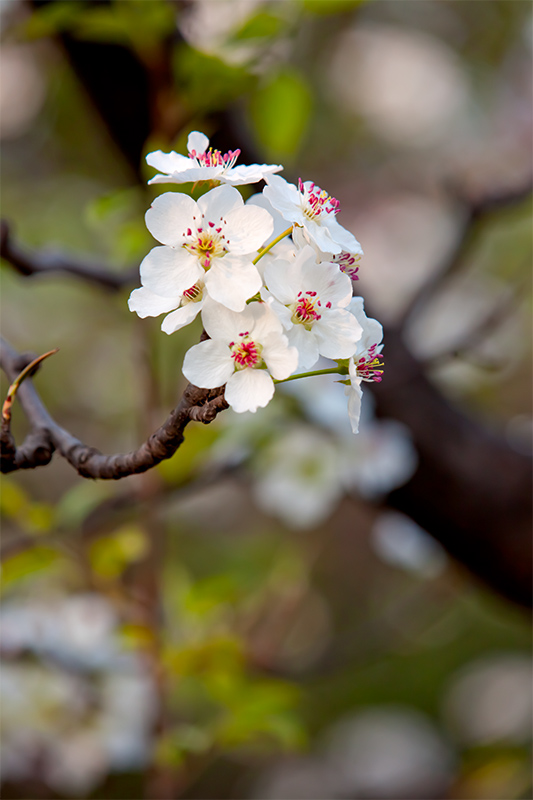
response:
<path id="1" fill-rule="evenodd" d="M 111 536 L 92 542 L 89 560 L 101 578 L 118 578 L 126 567 L 141 561 L 149 548 L 146 534 L 136 525 L 125 525 Z"/>

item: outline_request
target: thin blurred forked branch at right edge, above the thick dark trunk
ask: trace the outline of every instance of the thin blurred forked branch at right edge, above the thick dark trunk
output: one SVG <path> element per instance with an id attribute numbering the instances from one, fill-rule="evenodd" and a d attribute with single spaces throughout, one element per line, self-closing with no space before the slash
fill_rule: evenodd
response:
<path id="1" fill-rule="evenodd" d="M 426 304 L 437 294 L 444 284 L 455 275 L 463 266 L 470 248 L 475 242 L 479 227 L 491 214 L 502 209 L 519 205 L 533 192 L 533 184 L 528 181 L 509 192 L 500 192 L 487 197 L 471 200 L 455 192 L 455 197 L 463 206 L 463 220 L 457 234 L 457 239 L 452 251 L 447 255 L 440 268 L 424 283 L 415 293 L 411 302 L 405 308 L 399 322 L 400 330 L 404 330 L 408 323 Z"/>

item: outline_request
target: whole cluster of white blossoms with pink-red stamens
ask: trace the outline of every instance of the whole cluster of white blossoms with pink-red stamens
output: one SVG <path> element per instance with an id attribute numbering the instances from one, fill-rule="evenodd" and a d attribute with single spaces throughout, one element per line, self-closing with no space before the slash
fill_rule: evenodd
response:
<path id="1" fill-rule="evenodd" d="M 348 376 L 348 413 L 357 433 L 362 381 L 379 381 L 382 328 L 353 297 L 357 239 L 337 221 L 339 202 L 316 184 L 288 183 L 279 165 L 237 166 L 239 150 L 222 154 L 189 135 L 188 156 L 150 153 L 160 174 L 149 183 L 203 184 L 196 202 L 167 192 L 146 225 L 161 246 L 141 264 L 129 299 L 140 317 L 166 314 L 174 333 L 201 314 L 209 339 L 185 355 L 183 374 L 196 386 L 225 385 L 237 412 L 269 403 L 275 382 L 307 377 L 323 356 L 335 367 L 311 374 Z M 246 203 L 237 185 L 264 180 Z M 295 374 L 298 373 L 298 374 Z"/>

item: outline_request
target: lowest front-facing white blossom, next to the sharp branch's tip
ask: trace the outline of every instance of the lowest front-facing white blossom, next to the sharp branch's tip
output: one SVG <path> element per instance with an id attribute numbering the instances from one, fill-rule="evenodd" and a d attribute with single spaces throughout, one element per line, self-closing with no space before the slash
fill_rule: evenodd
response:
<path id="1" fill-rule="evenodd" d="M 211 338 L 185 354 L 187 380 L 204 389 L 226 384 L 225 398 L 239 413 L 266 406 L 274 395 L 272 377 L 288 378 L 298 363 L 277 316 L 265 303 L 250 303 L 237 314 L 210 302 L 202 320 Z"/>

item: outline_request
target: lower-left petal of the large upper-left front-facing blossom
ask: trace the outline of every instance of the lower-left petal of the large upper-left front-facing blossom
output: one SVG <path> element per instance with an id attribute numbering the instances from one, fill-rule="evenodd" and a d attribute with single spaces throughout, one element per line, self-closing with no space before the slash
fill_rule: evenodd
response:
<path id="1" fill-rule="evenodd" d="M 141 282 L 162 297 L 182 295 L 204 274 L 198 259 L 183 248 L 154 247 L 140 267 Z"/>

